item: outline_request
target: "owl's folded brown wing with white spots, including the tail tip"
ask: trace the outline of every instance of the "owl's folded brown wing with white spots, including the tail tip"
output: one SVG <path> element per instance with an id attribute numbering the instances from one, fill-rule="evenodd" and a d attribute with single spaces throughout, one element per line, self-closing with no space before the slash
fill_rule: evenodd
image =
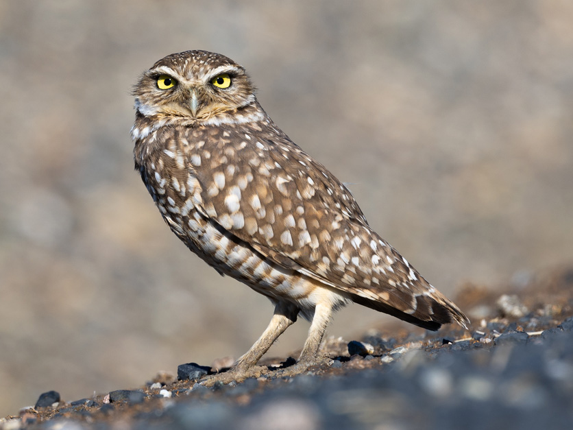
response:
<path id="1" fill-rule="evenodd" d="M 206 215 L 278 265 L 367 307 L 428 329 L 451 322 L 450 315 L 467 320 L 368 226 L 326 167 L 287 136 L 249 139 L 204 145 L 210 168 L 195 171 Z"/>

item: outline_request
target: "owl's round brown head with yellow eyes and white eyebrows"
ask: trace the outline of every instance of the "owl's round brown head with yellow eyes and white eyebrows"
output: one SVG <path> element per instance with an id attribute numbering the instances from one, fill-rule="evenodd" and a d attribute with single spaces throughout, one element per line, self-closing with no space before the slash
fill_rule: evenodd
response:
<path id="1" fill-rule="evenodd" d="M 190 124 L 240 123 L 260 119 L 255 88 L 245 69 L 207 51 L 173 53 L 143 73 L 134 87 L 141 115 Z"/>

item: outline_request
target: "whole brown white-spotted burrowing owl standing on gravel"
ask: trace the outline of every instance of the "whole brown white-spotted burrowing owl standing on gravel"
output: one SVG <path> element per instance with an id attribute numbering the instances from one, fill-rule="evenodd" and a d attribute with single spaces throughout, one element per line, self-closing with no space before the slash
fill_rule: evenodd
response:
<path id="1" fill-rule="evenodd" d="M 350 302 L 429 330 L 468 322 L 273 123 L 239 64 L 174 53 L 143 73 L 134 96 L 135 166 L 164 221 L 217 272 L 275 307 L 263 335 L 218 379 L 258 374 L 257 361 L 299 314 L 311 325 L 291 372 L 308 368 L 333 311 Z"/>

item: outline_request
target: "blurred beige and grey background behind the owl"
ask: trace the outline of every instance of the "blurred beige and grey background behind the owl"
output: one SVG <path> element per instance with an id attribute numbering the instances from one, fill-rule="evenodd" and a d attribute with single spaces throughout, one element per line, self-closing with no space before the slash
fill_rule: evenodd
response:
<path id="1" fill-rule="evenodd" d="M 273 120 L 452 298 L 573 261 L 568 0 L 3 0 L 0 416 L 239 357 L 269 322 L 133 170 L 131 86 L 187 49 L 243 64 Z M 356 305 L 328 334 L 387 321 Z"/>

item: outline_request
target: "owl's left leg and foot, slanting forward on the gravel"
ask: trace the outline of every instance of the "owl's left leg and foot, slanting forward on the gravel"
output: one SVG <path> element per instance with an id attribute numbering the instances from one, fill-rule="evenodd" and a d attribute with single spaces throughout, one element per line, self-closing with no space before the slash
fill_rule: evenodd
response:
<path id="1" fill-rule="evenodd" d="M 256 366 L 260 357 L 269 350 L 273 342 L 285 331 L 289 326 L 297 320 L 299 309 L 295 304 L 286 302 L 278 302 L 275 306 L 273 318 L 269 322 L 269 326 L 263 332 L 253 346 L 243 355 L 227 372 L 214 374 L 206 377 L 201 381 L 202 385 L 210 387 L 217 381 L 222 383 L 230 383 L 231 381 L 244 381 L 247 378 L 260 377 L 260 375 L 267 370 L 261 366 Z"/>

